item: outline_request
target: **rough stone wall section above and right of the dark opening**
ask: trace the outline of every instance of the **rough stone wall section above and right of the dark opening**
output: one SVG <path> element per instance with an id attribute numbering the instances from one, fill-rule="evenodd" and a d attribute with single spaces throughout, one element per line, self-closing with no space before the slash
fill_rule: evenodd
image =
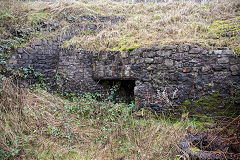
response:
<path id="1" fill-rule="evenodd" d="M 219 92 L 229 97 L 240 85 L 240 58 L 228 49 L 166 46 L 93 56 L 94 79 L 134 79 L 139 106 L 176 106 Z"/>

